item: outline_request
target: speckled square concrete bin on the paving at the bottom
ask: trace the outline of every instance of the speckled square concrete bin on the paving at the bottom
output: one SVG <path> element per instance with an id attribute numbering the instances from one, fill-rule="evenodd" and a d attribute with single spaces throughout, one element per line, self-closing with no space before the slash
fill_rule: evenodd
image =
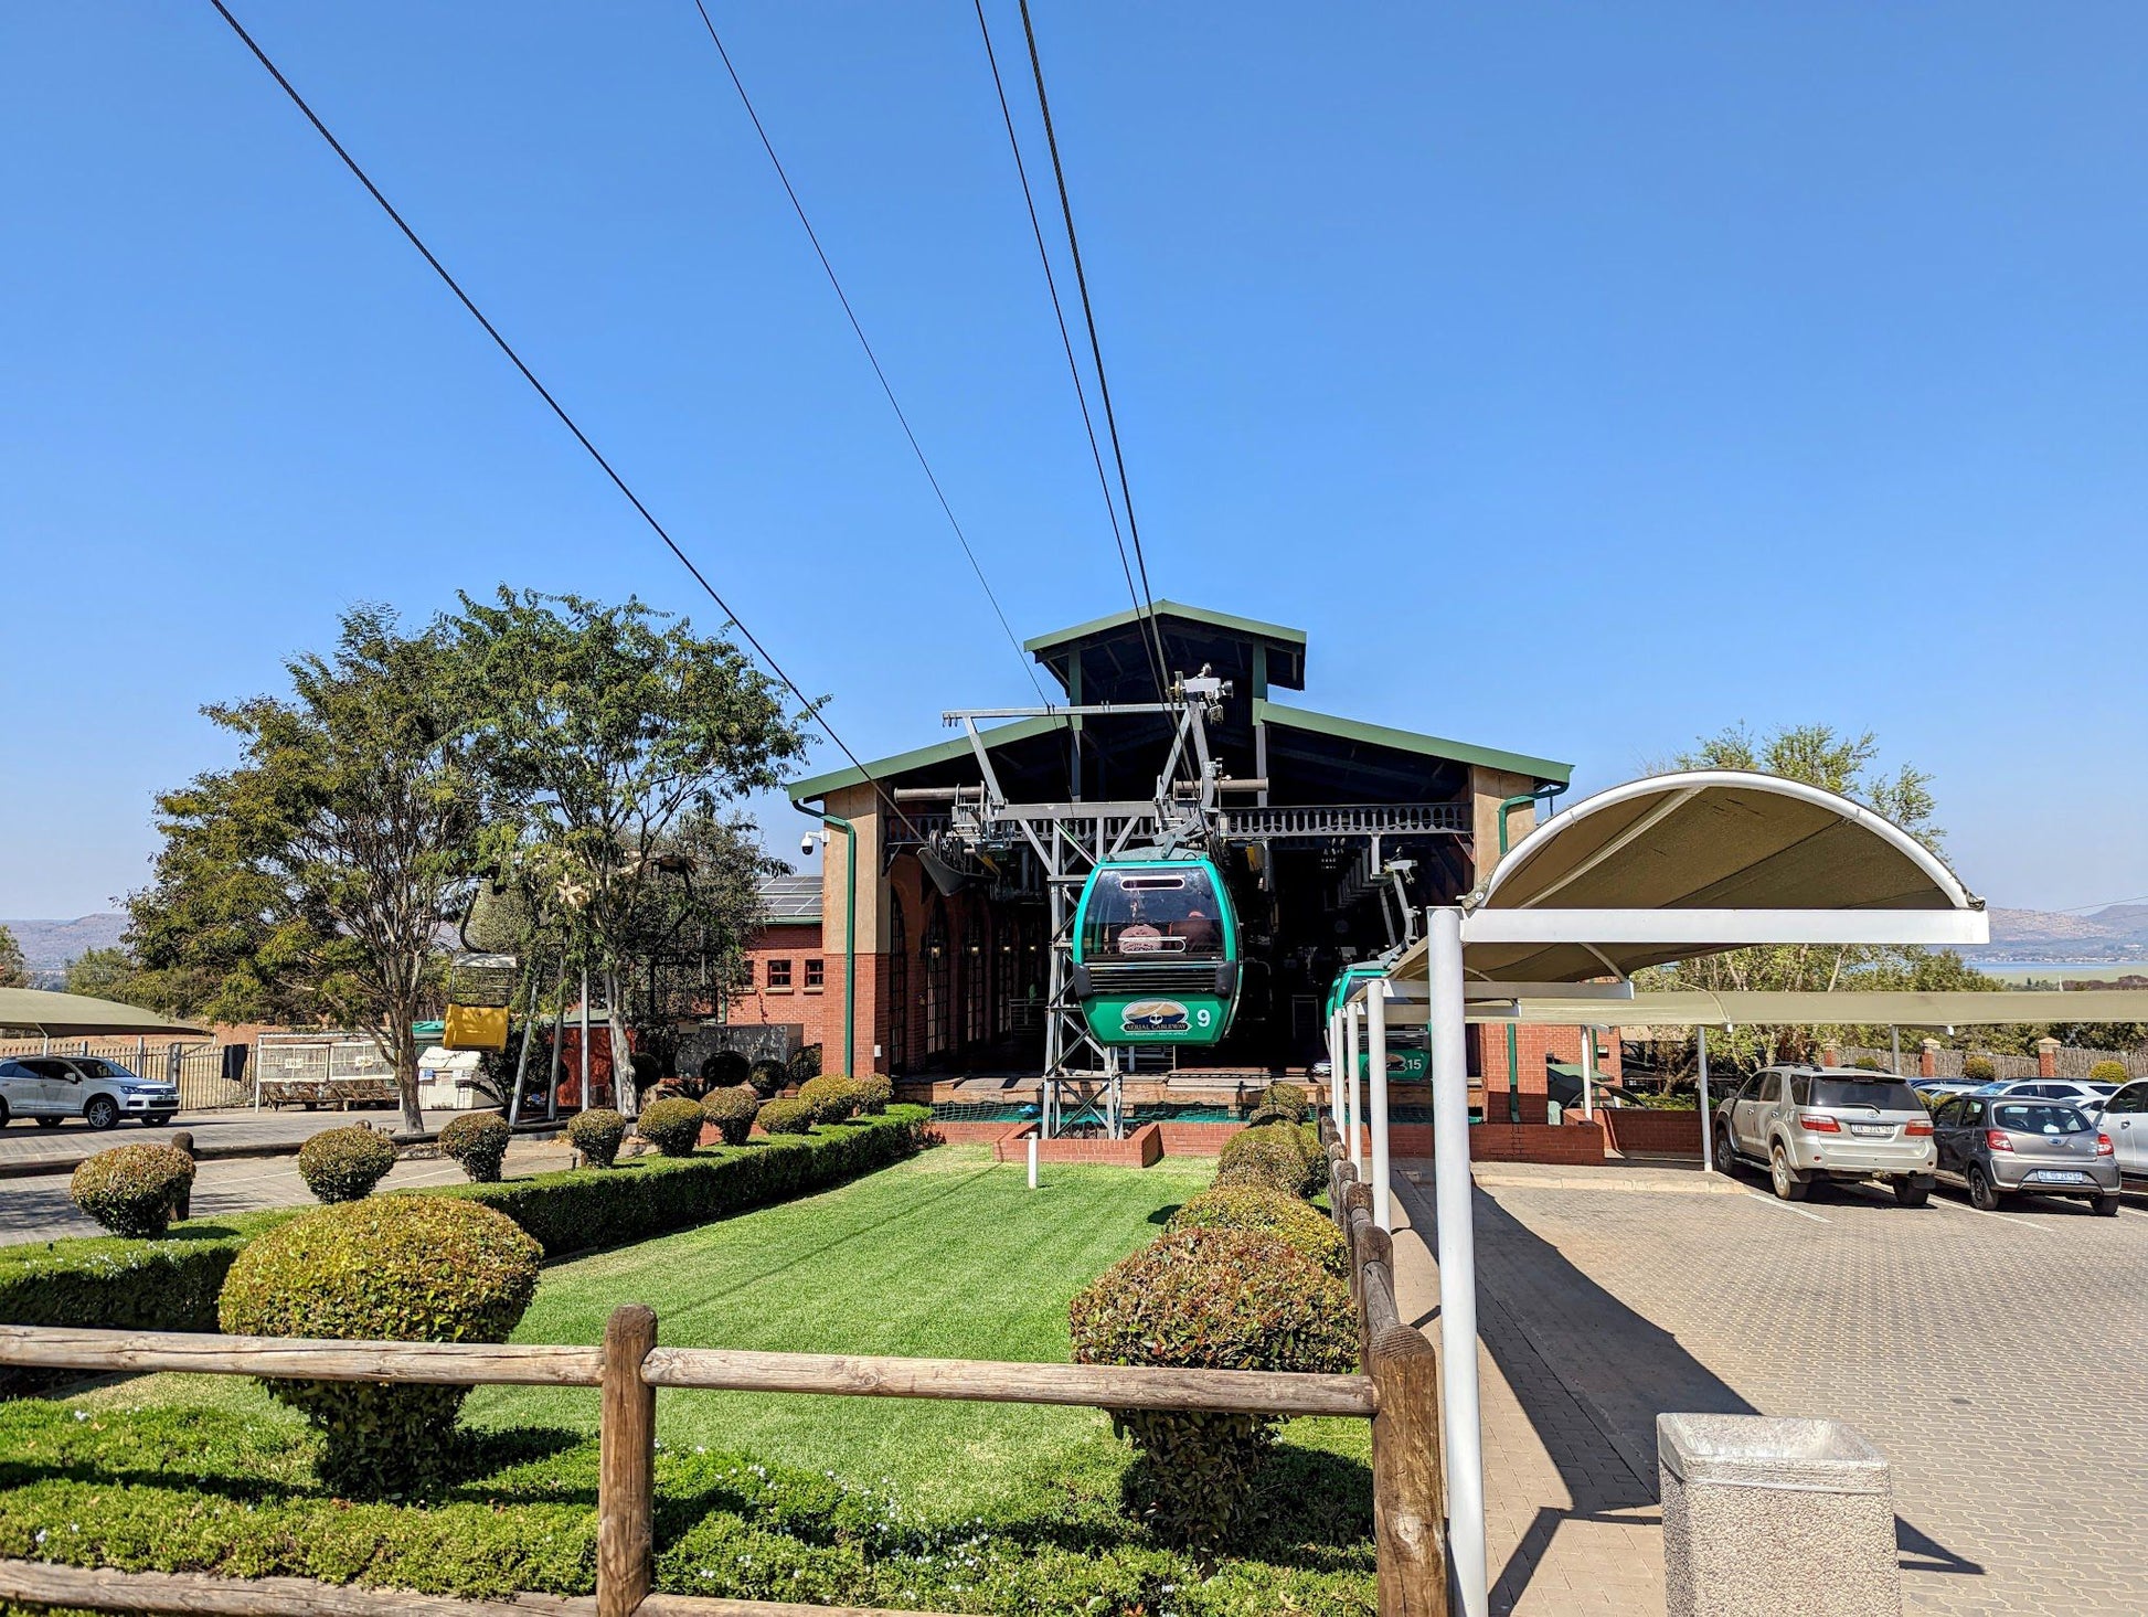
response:
<path id="1" fill-rule="evenodd" d="M 1899 1617 L 1895 1484 L 1841 1422 L 1658 1415 L 1669 1617 Z"/>

